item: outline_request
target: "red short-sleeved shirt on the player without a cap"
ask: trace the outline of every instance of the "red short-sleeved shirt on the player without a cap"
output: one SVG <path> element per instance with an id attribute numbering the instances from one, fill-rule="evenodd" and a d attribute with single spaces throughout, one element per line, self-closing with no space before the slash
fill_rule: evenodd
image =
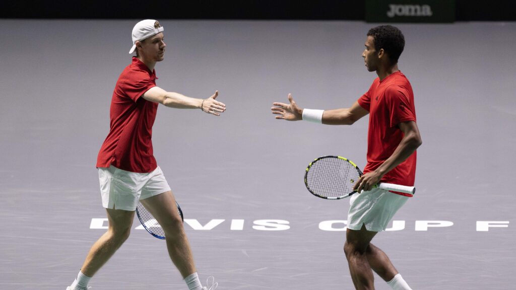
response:
<path id="1" fill-rule="evenodd" d="M 398 71 L 381 81 L 376 78 L 358 103 L 369 111 L 367 165 L 364 168 L 367 173 L 377 169 L 398 147 L 403 133 L 396 125 L 416 121 L 414 93 L 407 77 Z M 381 182 L 413 186 L 415 170 L 416 152 L 383 175 Z"/>

